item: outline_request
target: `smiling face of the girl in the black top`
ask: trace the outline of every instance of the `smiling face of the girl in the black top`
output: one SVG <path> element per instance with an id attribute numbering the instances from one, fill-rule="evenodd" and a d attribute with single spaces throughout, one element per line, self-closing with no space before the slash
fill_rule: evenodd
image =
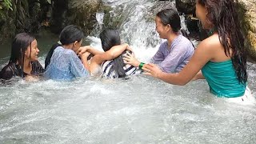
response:
<path id="1" fill-rule="evenodd" d="M 34 41 L 31 42 L 31 45 L 26 48 L 25 58 L 30 58 L 31 62 L 38 61 L 38 53 L 38 42 L 34 39 Z"/>

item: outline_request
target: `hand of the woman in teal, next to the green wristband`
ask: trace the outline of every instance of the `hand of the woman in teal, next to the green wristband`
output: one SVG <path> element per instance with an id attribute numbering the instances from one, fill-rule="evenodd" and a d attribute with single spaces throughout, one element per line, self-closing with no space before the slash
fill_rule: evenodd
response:
<path id="1" fill-rule="evenodd" d="M 145 64 L 142 67 L 142 70 L 146 71 L 144 74 L 150 75 L 154 78 L 159 78 L 159 75 L 162 73 L 162 70 L 160 70 L 158 66 L 154 65 L 153 63 Z"/>

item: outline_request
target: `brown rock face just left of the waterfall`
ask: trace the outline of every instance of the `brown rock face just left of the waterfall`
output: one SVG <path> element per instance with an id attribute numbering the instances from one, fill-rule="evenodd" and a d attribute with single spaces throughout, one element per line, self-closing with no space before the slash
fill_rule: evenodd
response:
<path id="1" fill-rule="evenodd" d="M 51 30 L 59 33 L 65 26 L 74 24 L 80 26 L 85 34 L 90 34 L 100 5 L 100 0 L 54 0 Z"/>

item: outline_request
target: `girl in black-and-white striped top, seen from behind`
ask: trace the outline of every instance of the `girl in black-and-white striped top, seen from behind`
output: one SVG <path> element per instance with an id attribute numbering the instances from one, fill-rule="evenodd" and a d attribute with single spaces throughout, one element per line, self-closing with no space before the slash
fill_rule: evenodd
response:
<path id="1" fill-rule="evenodd" d="M 100 38 L 102 49 L 105 52 L 95 50 L 90 46 L 82 47 L 80 51 L 80 54 L 85 52 L 94 54 L 94 57 L 90 59 L 89 66 L 91 75 L 101 75 L 105 78 L 125 78 L 128 75 L 140 73 L 136 67 L 124 63 L 123 55 L 132 54 L 132 51 L 128 44 L 121 44 L 118 30 L 106 28 L 101 32 Z"/>

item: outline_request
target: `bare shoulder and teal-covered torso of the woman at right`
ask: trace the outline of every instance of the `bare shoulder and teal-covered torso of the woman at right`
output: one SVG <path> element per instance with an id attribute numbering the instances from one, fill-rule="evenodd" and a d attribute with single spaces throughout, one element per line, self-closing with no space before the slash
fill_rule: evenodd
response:
<path id="1" fill-rule="evenodd" d="M 233 62 L 226 56 L 218 37 L 215 33 L 201 44 L 212 55 L 210 61 L 202 67 L 202 75 L 206 78 L 212 94 L 226 98 L 240 97 L 245 94 L 246 83 L 239 82 Z"/>

